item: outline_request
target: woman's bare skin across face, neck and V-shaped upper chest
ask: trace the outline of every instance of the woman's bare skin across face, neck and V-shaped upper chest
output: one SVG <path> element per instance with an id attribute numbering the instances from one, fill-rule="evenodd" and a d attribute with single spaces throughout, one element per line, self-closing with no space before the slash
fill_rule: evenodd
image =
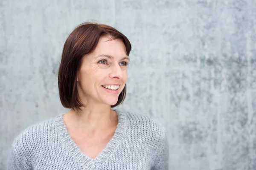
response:
<path id="1" fill-rule="evenodd" d="M 102 36 L 96 49 L 81 60 L 77 88 L 86 107 L 81 108 L 80 112 L 71 109 L 63 116 L 73 141 L 93 159 L 104 149 L 116 130 L 118 119 L 111 105 L 116 104 L 127 81 L 129 58 L 125 45 L 119 39 L 108 41 L 110 38 Z M 118 94 L 102 87 L 112 84 L 119 84 Z"/>

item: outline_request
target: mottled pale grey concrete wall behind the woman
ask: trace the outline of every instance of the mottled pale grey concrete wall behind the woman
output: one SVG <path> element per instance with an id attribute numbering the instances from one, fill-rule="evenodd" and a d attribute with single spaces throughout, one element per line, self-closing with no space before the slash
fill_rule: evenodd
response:
<path id="1" fill-rule="evenodd" d="M 67 110 L 61 49 L 96 20 L 131 40 L 119 107 L 165 125 L 173 170 L 256 169 L 254 0 L 0 0 L 0 169 L 21 130 Z"/>

